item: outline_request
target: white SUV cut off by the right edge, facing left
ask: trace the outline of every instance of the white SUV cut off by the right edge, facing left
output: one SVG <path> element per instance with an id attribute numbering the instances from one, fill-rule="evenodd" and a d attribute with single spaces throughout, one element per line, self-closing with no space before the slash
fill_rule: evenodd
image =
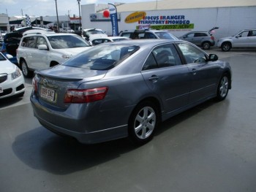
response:
<path id="1" fill-rule="evenodd" d="M 236 47 L 256 47 L 256 29 L 244 29 L 232 37 L 218 39 L 217 47 L 223 51 Z"/>

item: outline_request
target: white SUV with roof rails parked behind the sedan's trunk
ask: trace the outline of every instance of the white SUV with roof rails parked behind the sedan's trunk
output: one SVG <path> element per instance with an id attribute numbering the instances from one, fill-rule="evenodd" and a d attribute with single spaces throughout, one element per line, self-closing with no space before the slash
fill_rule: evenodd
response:
<path id="1" fill-rule="evenodd" d="M 34 70 L 61 64 L 90 47 L 89 42 L 76 34 L 31 30 L 20 40 L 17 60 L 23 75 L 31 77 Z"/>

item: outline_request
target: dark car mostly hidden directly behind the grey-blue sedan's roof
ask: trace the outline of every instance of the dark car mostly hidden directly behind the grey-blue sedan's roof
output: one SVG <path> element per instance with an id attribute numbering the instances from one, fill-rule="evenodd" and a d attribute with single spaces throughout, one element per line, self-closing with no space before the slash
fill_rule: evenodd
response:
<path id="1" fill-rule="evenodd" d="M 121 37 L 129 37 L 131 39 L 176 39 L 169 31 L 143 29 L 143 30 L 125 30 L 119 33 Z"/>

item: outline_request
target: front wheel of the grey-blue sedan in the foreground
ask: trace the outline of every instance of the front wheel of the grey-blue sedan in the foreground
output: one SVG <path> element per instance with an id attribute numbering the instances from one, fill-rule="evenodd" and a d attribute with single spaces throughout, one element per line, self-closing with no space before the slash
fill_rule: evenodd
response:
<path id="1" fill-rule="evenodd" d="M 223 74 L 222 78 L 219 80 L 219 85 L 217 89 L 217 101 L 222 101 L 227 97 L 229 90 L 230 79 L 227 74 Z"/>

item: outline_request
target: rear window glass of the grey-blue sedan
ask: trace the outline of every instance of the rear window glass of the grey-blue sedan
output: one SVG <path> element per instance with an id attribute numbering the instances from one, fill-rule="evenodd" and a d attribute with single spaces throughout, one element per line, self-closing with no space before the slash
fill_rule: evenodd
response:
<path id="1" fill-rule="evenodd" d="M 64 62 L 64 66 L 108 70 L 139 50 L 135 45 L 97 45 Z"/>

